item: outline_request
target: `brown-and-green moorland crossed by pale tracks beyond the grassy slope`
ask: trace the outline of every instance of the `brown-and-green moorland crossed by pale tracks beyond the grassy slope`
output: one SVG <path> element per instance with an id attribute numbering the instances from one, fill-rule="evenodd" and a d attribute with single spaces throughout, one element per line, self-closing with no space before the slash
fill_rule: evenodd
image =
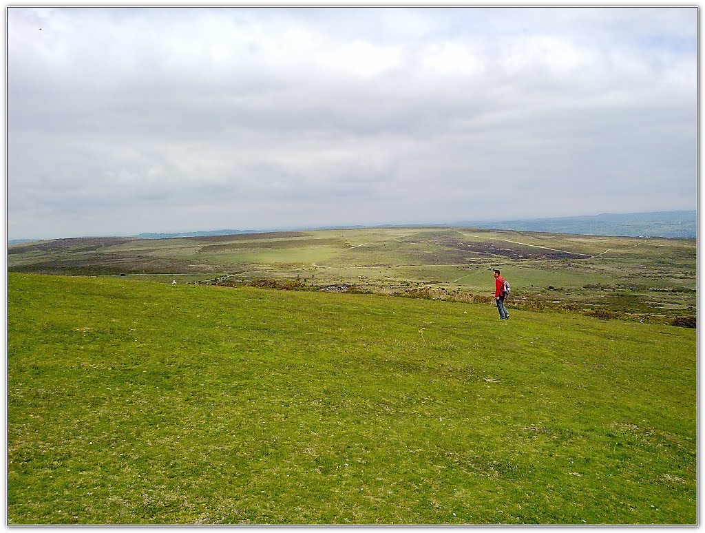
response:
<path id="1" fill-rule="evenodd" d="M 474 228 L 362 228 L 186 238 L 77 238 L 8 247 L 10 271 L 135 276 L 490 302 L 694 326 L 694 239 Z"/>

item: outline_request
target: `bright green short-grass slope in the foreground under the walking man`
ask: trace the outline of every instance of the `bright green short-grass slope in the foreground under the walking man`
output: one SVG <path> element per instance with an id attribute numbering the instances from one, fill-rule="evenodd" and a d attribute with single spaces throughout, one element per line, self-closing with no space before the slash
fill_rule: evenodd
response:
<path id="1" fill-rule="evenodd" d="M 696 391 L 693 329 L 11 272 L 8 522 L 694 524 Z"/>

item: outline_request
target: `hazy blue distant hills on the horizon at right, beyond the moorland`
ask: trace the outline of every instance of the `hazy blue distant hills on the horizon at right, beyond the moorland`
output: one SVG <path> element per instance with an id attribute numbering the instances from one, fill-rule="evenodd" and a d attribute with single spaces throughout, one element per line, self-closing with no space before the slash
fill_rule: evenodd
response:
<path id="1" fill-rule="evenodd" d="M 594 216 L 565 216 L 556 219 L 462 221 L 458 224 L 475 228 L 571 233 L 574 235 L 695 238 L 697 235 L 697 212 L 606 213 Z"/>

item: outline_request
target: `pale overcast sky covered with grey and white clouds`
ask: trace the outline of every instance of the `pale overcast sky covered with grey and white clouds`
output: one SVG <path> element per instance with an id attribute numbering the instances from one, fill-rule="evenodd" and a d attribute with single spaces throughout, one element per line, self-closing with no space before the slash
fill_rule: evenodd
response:
<path id="1" fill-rule="evenodd" d="M 697 8 L 7 9 L 8 239 L 697 208 Z"/>

